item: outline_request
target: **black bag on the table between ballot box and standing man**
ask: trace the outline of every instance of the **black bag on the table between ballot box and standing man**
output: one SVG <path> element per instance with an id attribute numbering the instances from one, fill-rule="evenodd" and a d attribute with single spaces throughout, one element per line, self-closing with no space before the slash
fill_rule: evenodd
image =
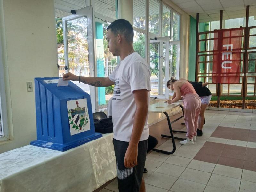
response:
<path id="1" fill-rule="evenodd" d="M 94 119 L 95 132 L 98 133 L 112 133 L 113 132 L 113 122 L 112 117 L 104 119 Z"/>

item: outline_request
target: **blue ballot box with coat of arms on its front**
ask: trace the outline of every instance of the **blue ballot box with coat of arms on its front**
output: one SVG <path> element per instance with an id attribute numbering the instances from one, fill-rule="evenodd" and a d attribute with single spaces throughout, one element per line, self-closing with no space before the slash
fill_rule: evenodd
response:
<path id="1" fill-rule="evenodd" d="M 35 78 L 37 140 L 31 145 L 66 151 L 102 137 L 95 133 L 90 95 L 59 77 Z"/>

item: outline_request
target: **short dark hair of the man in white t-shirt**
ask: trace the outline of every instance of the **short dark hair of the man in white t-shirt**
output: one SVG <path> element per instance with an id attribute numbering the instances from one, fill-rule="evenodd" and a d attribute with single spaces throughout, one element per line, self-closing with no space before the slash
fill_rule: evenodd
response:
<path id="1" fill-rule="evenodd" d="M 108 26 L 107 31 L 108 29 L 111 29 L 111 32 L 114 33 L 115 36 L 117 36 L 117 34 L 124 35 L 127 42 L 133 42 L 133 28 L 129 21 L 117 19 Z"/>

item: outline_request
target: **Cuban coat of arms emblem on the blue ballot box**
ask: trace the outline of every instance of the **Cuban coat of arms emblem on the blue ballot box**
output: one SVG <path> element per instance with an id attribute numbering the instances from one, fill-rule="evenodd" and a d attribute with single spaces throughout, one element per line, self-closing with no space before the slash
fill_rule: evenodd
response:
<path id="1" fill-rule="evenodd" d="M 90 130 L 90 119 L 86 99 L 67 101 L 70 135 Z"/>

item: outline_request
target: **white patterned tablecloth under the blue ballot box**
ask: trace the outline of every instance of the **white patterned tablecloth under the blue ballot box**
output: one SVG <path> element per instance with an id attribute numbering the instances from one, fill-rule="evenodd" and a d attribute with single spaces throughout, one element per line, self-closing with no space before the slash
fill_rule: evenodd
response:
<path id="1" fill-rule="evenodd" d="M 91 192 L 116 177 L 113 134 L 65 152 L 27 145 L 0 154 L 0 192 Z"/>

